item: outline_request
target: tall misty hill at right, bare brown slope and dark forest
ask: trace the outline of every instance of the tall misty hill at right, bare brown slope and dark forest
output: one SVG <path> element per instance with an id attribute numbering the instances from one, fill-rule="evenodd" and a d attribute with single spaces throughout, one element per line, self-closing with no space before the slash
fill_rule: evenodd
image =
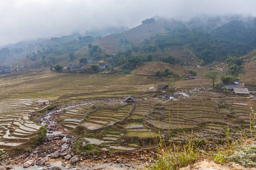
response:
<path id="1" fill-rule="evenodd" d="M 104 53 L 131 50 L 131 55 L 153 54 L 174 56 L 190 65 L 201 61 L 224 61 L 226 56 L 241 57 L 256 48 L 255 18 L 238 16 L 223 18 L 195 18 L 188 22 L 154 17 L 129 31 L 103 37 L 93 42 Z M 88 48 L 77 51 L 79 56 Z M 86 55 L 92 58 L 90 55 Z"/>

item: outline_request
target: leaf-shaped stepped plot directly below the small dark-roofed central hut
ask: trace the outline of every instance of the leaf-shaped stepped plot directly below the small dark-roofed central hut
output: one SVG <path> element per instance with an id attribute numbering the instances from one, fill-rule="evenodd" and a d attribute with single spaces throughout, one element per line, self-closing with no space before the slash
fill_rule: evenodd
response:
<path id="1" fill-rule="evenodd" d="M 115 122 L 121 121 L 127 117 L 132 107 L 132 104 L 128 104 L 119 108 L 96 110 L 86 117 L 82 126 L 89 130 L 95 130 L 113 125 Z"/>

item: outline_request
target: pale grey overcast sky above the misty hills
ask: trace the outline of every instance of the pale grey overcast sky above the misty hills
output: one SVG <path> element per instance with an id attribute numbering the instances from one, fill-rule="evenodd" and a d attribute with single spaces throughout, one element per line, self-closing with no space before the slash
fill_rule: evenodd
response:
<path id="1" fill-rule="evenodd" d="M 1 0 L 0 45 L 105 27 L 136 27 L 155 15 L 256 16 L 255 0 Z"/>

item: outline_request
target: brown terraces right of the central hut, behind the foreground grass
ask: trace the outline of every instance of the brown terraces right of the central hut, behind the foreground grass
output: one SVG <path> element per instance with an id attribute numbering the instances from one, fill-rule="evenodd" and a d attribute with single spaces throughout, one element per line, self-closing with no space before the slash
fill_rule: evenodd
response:
<path id="1" fill-rule="evenodd" d="M 224 103 L 227 108 L 218 109 L 220 103 Z M 188 99 L 157 104 L 154 111 L 148 114 L 146 121 L 155 128 L 177 130 L 172 134 L 172 141 L 190 138 L 191 134 L 183 133 L 185 129 L 193 129 L 193 136 L 197 139 L 222 139 L 228 125 L 235 129 L 233 134 L 237 135 L 243 133 L 240 128 L 249 127 L 250 106 L 256 108 L 256 102 L 240 96 L 225 97 L 218 93 L 205 92 Z"/>

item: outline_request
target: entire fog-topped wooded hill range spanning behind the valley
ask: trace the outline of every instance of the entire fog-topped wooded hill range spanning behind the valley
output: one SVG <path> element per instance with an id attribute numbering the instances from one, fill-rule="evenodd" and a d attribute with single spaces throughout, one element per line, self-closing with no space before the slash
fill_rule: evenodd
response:
<path id="1" fill-rule="evenodd" d="M 0 50 L 0 60 L 26 57 L 16 65 L 50 67 L 57 63 L 100 61 L 112 56 L 116 65 L 134 66 L 143 61 L 163 61 L 170 64 L 204 65 L 224 61 L 228 56 L 241 57 L 256 48 L 256 19 L 242 16 L 193 18 L 187 22 L 158 16 L 142 21 L 138 27 L 105 37 L 79 36 L 52 38 L 42 44 L 31 44 Z M 89 45 L 89 46 L 88 46 Z M 114 54 L 114 55 L 112 55 Z M 20 63 L 20 64 L 19 64 Z"/>

